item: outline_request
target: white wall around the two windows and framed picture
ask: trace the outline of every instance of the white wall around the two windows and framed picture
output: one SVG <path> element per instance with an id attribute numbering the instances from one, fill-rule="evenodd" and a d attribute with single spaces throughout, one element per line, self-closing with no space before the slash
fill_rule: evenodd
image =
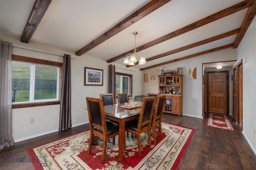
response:
<path id="1" fill-rule="evenodd" d="M 71 57 L 76 57 L 76 59 L 71 59 L 71 114 L 73 127 L 88 123 L 86 97 L 90 96 L 99 98 L 100 93 L 108 92 L 109 64 L 114 64 L 118 67 L 116 68 L 116 72 L 133 74 L 132 82 L 134 95 L 141 95 L 142 74 L 139 69 L 130 68 L 129 70 L 126 70 L 127 68 L 122 64 L 106 63 L 106 61 L 86 55 L 76 56 L 74 51 L 66 51 L 65 49 L 35 43 L 33 41 L 30 41 L 30 43 L 22 43 L 20 42 L 19 37 L 14 37 L 4 33 L 1 33 L 0 37 L 2 41 L 11 42 L 13 45 L 57 54 L 70 54 Z M 60 63 L 63 62 L 63 57 L 61 56 L 39 53 L 17 47 L 13 47 L 12 53 L 14 55 L 33 57 Z M 84 86 L 84 67 L 103 69 L 103 86 Z M 12 109 L 12 136 L 14 141 L 23 141 L 32 137 L 58 131 L 59 112 L 60 105 Z M 30 118 L 34 118 L 34 123 L 29 123 Z"/>

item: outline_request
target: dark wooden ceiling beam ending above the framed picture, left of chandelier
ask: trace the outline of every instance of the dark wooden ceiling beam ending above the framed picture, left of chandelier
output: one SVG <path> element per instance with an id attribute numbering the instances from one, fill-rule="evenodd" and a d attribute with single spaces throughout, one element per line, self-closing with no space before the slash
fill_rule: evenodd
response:
<path id="1" fill-rule="evenodd" d="M 93 49 L 100 43 L 106 41 L 107 39 L 113 37 L 120 31 L 124 30 L 125 28 L 129 27 L 130 25 L 134 24 L 138 20 L 144 18 L 151 12 L 157 10 L 167 2 L 170 2 L 171 0 L 152 0 L 148 2 L 148 4 L 144 5 L 142 8 L 134 12 L 132 15 L 128 16 L 126 19 L 106 31 L 104 34 L 100 35 L 98 38 L 94 39 L 92 42 L 87 44 L 86 46 L 82 47 L 82 49 L 76 51 L 76 55 L 80 56 L 90 49 Z"/>

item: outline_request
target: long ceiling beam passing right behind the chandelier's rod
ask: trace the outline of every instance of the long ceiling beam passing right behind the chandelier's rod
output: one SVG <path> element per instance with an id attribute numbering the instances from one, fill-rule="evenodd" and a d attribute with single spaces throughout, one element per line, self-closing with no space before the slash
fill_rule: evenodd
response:
<path id="1" fill-rule="evenodd" d="M 220 12 L 212 14 L 212 15 L 206 17 L 206 18 L 203 18 L 202 20 L 198 20 L 198 21 L 196 21 L 194 23 L 191 23 L 191 24 L 189 24 L 189 25 L 187 25 L 185 27 L 182 27 L 182 28 L 180 28 L 180 29 L 178 29 L 178 30 L 176 30 L 174 32 L 171 32 L 171 33 L 169 33 L 167 35 L 164 35 L 164 36 L 162 36 L 162 37 L 160 37 L 158 39 L 150 41 L 149 43 L 141 45 L 140 47 L 136 48 L 136 51 L 137 52 L 138 51 L 142 51 L 144 49 L 147 49 L 149 47 L 152 47 L 154 45 L 162 43 L 162 42 L 164 42 L 164 41 L 166 41 L 168 39 L 174 38 L 174 37 L 176 37 L 178 35 L 182 35 L 184 33 L 187 33 L 188 31 L 192 31 L 193 29 L 196 29 L 198 27 L 201 27 L 201 26 L 206 25 L 208 23 L 211 23 L 213 21 L 219 20 L 220 18 L 224 18 L 224 17 L 226 17 L 226 16 L 228 16 L 230 14 L 234 14 L 234 13 L 240 11 L 240 10 L 243 10 L 245 8 L 248 8 L 248 7 L 252 6 L 252 2 L 253 2 L 252 0 L 245 0 L 245 1 L 242 1 L 242 2 L 240 2 L 238 4 L 230 6 L 229 8 L 226 8 L 226 9 L 220 11 Z M 123 53 L 121 55 L 118 55 L 118 56 L 116 56 L 116 57 L 114 57 L 112 59 L 108 59 L 107 63 L 111 63 L 111 62 L 114 62 L 116 60 L 122 59 L 122 58 L 126 57 L 129 53 L 132 53 L 133 50 L 134 49 L 132 49 L 130 51 L 127 51 L 126 53 Z"/>

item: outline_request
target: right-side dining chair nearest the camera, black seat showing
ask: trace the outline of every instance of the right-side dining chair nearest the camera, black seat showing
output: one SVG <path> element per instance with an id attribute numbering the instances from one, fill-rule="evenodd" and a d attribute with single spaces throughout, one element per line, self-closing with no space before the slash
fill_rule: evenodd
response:
<path id="1" fill-rule="evenodd" d="M 144 98 L 142 102 L 142 108 L 140 111 L 139 119 L 133 119 L 125 122 L 126 131 L 132 134 L 135 134 L 137 136 L 139 156 L 141 156 L 141 144 L 140 144 L 141 133 L 145 131 L 148 132 L 148 144 L 149 144 L 149 147 L 151 147 L 150 124 L 152 120 L 155 100 L 156 100 L 155 97 Z"/>

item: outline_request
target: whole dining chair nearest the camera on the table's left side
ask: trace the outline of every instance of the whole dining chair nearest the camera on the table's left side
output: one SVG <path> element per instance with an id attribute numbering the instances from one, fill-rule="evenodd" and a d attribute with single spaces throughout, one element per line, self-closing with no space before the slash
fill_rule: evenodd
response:
<path id="1" fill-rule="evenodd" d="M 108 139 L 118 135 L 119 125 L 112 121 L 106 121 L 104 105 L 102 98 L 86 97 L 88 108 L 90 139 L 88 153 L 91 153 L 92 145 L 94 144 L 94 136 L 103 139 L 101 163 L 103 164 L 106 157 L 106 148 Z"/>

